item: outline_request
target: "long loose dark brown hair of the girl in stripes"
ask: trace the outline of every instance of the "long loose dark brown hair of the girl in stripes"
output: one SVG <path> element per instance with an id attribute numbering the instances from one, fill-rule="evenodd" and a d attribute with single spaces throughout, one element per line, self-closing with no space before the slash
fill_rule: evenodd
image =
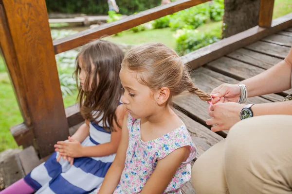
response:
<path id="1" fill-rule="evenodd" d="M 106 40 L 95 40 L 83 46 L 76 57 L 74 75 L 79 89 L 77 99 L 79 100 L 80 113 L 84 119 L 97 123 L 102 121 L 103 127 L 108 127 L 111 131 L 114 131 L 113 122 L 118 125 L 115 111 L 123 93 L 119 78 L 123 58 L 123 51 L 117 45 Z M 84 83 L 85 91 L 78 84 L 78 76 L 81 71 L 78 59 L 81 60 L 87 72 Z M 92 84 L 90 86 L 91 77 Z M 94 111 L 98 112 L 94 113 Z M 98 118 L 100 119 L 97 120 Z"/>

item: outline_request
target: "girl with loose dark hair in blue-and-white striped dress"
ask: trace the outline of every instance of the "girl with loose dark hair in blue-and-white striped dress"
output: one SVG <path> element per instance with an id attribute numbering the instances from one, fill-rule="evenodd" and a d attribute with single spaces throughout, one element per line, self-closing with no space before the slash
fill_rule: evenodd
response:
<path id="1" fill-rule="evenodd" d="M 84 46 L 75 76 L 85 123 L 69 140 L 58 142 L 46 162 L 1 194 L 87 194 L 101 184 L 115 158 L 126 113 L 119 105 L 123 57 L 118 46 L 104 40 Z"/>

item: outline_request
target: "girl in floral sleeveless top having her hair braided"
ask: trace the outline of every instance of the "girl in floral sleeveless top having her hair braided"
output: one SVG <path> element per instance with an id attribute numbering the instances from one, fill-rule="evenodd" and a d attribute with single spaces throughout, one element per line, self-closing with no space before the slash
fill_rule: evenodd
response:
<path id="1" fill-rule="evenodd" d="M 191 177 L 196 147 L 171 99 L 188 91 L 210 96 L 191 81 L 172 49 L 146 44 L 128 52 L 120 79 L 125 93 L 122 140 L 99 194 L 181 194 Z"/>

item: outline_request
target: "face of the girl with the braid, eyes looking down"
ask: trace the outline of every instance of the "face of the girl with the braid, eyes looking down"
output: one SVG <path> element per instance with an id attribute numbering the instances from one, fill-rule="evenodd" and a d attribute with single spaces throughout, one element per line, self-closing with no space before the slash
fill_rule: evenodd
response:
<path id="1" fill-rule="evenodd" d="M 137 73 L 122 67 L 120 79 L 125 90 L 122 102 L 126 104 L 127 111 L 133 118 L 145 118 L 155 113 L 158 106 L 154 100 L 156 94 L 137 80 Z"/>

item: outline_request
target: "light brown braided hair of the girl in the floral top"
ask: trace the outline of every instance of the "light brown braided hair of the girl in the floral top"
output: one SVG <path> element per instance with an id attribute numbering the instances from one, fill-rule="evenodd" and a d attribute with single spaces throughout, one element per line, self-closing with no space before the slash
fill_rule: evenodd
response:
<path id="1" fill-rule="evenodd" d="M 122 66 L 138 73 L 138 80 L 152 90 L 168 87 L 171 97 L 184 91 L 196 94 L 201 100 L 211 97 L 196 87 L 189 76 L 189 69 L 178 54 L 164 44 L 145 44 L 131 49 L 125 56 Z"/>

